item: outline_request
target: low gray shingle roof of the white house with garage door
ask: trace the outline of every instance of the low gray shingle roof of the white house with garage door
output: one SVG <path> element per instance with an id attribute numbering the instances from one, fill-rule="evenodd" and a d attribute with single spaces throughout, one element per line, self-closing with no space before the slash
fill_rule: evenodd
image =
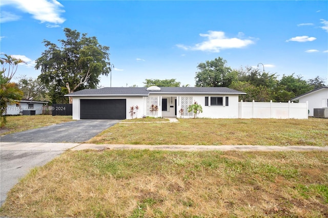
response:
<path id="1" fill-rule="evenodd" d="M 113 87 L 85 89 L 65 96 L 148 96 L 150 94 L 246 94 L 226 87 L 161 87 L 160 91 L 147 91 L 145 87 Z"/>

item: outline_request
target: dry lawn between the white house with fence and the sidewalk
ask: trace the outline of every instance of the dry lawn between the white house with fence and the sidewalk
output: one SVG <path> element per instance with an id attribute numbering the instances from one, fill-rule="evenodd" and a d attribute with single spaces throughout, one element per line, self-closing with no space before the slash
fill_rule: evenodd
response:
<path id="1" fill-rule="evenodd" d="M 92 138 L 101 144 L 328 146 L 328 119 L 179 119 L 118 123 Z"/>

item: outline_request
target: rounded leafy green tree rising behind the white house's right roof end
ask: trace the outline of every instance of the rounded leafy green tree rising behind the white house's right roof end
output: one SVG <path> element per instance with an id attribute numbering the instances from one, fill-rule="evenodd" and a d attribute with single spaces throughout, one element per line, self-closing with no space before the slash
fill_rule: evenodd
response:
<path id="1" fill-rule="evenodd" d="M 227 61 L 221 57 L 214 60 L 207 60 L 197 66 L 195 80 L 196 86 L 201 87 L 228 87 L 237 80 L 237 72 L 226 66 Z"/>

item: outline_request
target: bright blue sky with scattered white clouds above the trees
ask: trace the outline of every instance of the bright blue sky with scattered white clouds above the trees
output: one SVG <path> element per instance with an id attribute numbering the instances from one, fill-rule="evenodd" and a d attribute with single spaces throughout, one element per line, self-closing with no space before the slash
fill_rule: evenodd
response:
<path id="1" fill-rule="evenodd" d="M 197 65 L 222 57 L 227 66 L 277 75 L 328 78 L 327 1 L 55 1 L 0 2 L 2 53 L 28 62 L 16 76 L 36 78 L 44 39 L 70 28 L 110 47 L 112 86 L 145 79 L 195 84 Z M 263 70 L 262 65 L 259 69 Z M 328 84 L 328 81 L 326 84 Z M 110 86 L 110 76 L 100 85 Z"/>

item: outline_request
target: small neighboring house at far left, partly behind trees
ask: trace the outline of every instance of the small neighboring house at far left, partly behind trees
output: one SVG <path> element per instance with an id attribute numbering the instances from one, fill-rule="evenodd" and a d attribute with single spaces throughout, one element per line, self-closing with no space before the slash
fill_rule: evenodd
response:
<path id="1" fill-rule="evenodd" d="M 6 115 L 39 115 L 42 114 L 47 101 L 31 101 L 22 99 L 17 104 L 7 106 Z"/>

